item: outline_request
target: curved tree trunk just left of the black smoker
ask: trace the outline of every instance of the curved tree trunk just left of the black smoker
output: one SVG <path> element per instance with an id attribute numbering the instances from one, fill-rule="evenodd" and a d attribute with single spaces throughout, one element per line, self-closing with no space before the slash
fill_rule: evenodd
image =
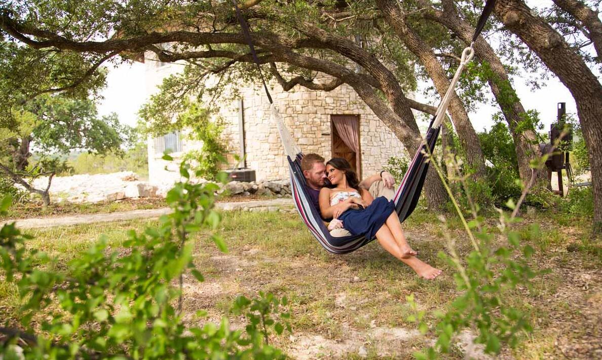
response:
<path id="1" fill-rule="evenodd" d="M 425 15 L 427 19 L 434 20 L 450 29 L 462 41 L 470 45 L 474 35 L 474 28 L 458 16 L 458 10 L 452 0 L 442 1 L 444 11 L 430 7 L 430 1 L 423 1 L 421 3 L 429 7 L 429 11 Z M 535 129 L 532 126 L 526 127 L 523 125 L 524 116 L 526 116 L 523 104 L 518 99 L 500 58 L 495 55 L 494 50 L 483 37 L 479 37 L 474 43 L 474 52 L 480 60 L 486 61 L 489 64 L 489 68 L 491 69 L 491 76 L 488 79 L 489 87 L 491 87 L 491 92 L 498 105 L 500 105 L 510 134 L 514 140 L 518 160 L 518 173 L 521 181 L 523 181 L 523 184 L 527 184 L 531 179 L 530 163 L 540 156 Z M 535 171 L 537 182 L 547 179 L 545 169 Z"/>

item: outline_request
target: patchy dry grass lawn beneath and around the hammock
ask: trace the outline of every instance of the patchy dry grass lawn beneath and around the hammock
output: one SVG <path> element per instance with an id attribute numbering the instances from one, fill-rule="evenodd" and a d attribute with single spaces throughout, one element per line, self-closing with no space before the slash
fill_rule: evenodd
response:
<path id="1" fill-rule="evenodd" d="M 525 336 L 518 349 L 508 351 L 516 358 L 572 354 L 571 343 L 588 340 L 588 334 L 600 334 L 595 331 L 602 330 L 588 312 L 588 304 L 602 303 L 599 272 L 595 275 L 602 267 L 602 256 L 595 250 L 599 246 L 586 236 L 588 229 L 582 223 L 558 226 L 554 216 L 537 214 L 536 219 L 542 224 L 539 236 L 534 230 L 534 219 L 527 219 L 519 226 L 524 241 L 537 250 L 533 267 L 550 268 L 551 272 L 536 279 L 532 288 L 504 297 L 529 312 L 535 326 L 535 332 Z M 462 235 L 461 225 L 455 220 L 450 223 L 448 231 L 458 239 L 461 255 L 466 255 L 470 244 Z M 142 231 L 145 226 L 154 225 L 155 221 L 132 220 L 26 232 L 35 237 L 29 246 L 57 256 L 61 264 L 66 264 L 101 234 L 107 235 L 110 246 L 116 249 L 125 240 L 127 229 Z M 220 253 L 207 234 L 195 239 L 195 261 L 206 281 L 194 285 L 194 296 L 185 299 L 184 309 L 190 314 L 206 309 L 210 320 L 217 321 L 228 314 L 229 304 L 239 294 L 254 296 L 260 290 L 271 291 L 291 300 L 297 338 L 319 334 L 341 344 L 359 346 L 368 342 L 365 345 L 368 358 L 408 358 L 430 341 L 433 334 L 401 341 L 376 339 L 371 331 L 381 327 L 414 330 L 414 323 L 408 321 L 411 309 L 405 300 L 410 294 L 415 294 L 419 309 L 426 310 L 429 322 L 434 324 L 433 311 L 444 311 L 457 293 L 451 276 L 453 269 L 436 256 L 444 250 L 439 220 L 419 209 L 404 223 L 404 228 L 420 257 L 442 268 L 444 276 L 437 281 L 419 279 L 376 242 L 347 255 L 330 255 L 309 234 L 297 214 L 223 213 L 219 232 L 229 252 Z M 579 282 L 586 281 L 582 278 L 589 279 L 589 285 Z M 0 282 L 2 312 L 15 314 L 17 299 L 16 289 Z M 581 327 L 587 330 L 580 331 Z M 275 344 L 284 349 L 297 346 L 286 336 L 275 338 Z M 569 350 L 555 344 L 568 344 Z M 592 349 L 595 344 L 592 340 Z M 335 355 L 324 352 L 323 357 L 360 357 L 358 347 L 351 346 L 345 351 Z M 575 354 L 579 357 L 578 352 Z M 462 354 L 458 351 L 450 358 L 462 358 Z"/>

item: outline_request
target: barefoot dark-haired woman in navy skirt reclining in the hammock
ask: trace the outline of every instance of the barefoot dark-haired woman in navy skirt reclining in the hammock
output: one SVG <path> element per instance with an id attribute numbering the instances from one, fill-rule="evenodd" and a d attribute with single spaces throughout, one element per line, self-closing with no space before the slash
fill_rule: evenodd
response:
<path id="1" fill-rule="evenodd" d="M 385 197 L 373 199 L 370 193 L 359 187 L 358 175 L 347 160 L 332 158 L 326 163 L 326 176 L 332 188 L 320 191 L 320 211 L 324 219 L 340 220 L 353 235 L 364 235 L 379 241 L 391 255 L 405 262 L 421 277 L 435 279 L 441 270 L 421 261 L 403 236 L 395 206 Z M 340 206 L 344 203 L 343 211 Z"/>

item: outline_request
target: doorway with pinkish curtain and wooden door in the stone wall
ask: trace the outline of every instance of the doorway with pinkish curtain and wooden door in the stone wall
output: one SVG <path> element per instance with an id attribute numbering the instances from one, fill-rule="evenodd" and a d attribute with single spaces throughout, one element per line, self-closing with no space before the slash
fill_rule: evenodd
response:
<path id="1" fill-rule="evenodd" d="M 362 150 L 359 143 L 359 115 L 330 115 L 332 157 L 349 161 L 362 178 Z"/>

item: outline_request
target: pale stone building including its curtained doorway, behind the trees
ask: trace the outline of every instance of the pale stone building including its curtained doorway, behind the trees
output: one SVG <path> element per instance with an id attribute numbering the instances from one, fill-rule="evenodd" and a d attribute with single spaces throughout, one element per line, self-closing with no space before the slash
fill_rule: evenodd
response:
<path id="1" fill-rule="evenodd" d="M 145 54 L 149 58 L 153 55 Z M 181 64 L 146 61 L 147 95 L 157 92 L 164 77 L 181 69 Z M 237 85 L 237 84 L 233 84 Z M 255 170 L 257 181 L 287 179 L 288 164 L 278 130 L 270 119 L 269 102 L 259 86 L 237 87 L 240 98 L 223 101 L 219 115 L 225 123 L 223 140 L 231 154 L 244 155 L 244 164 Z M 305 154 L 316 152 L 326 160 L 345 157 L 360 176 L 378 172 L 390 157 L 403 157 L 402 143 L 374 115 L 349 85 L 341 85 L 330 92 L 308 90 L 297 85 L 284 92 L 279 84 L 270 84 L 270 93 L 278 106 L 294 140 Z M 344 121 L 355 127 L 357 151 L 347 146 L 335 123 Z M 178 158 L 200 144 L 187 141 L 182 134 L 168 134 L 149 138 L 149 180 L 169 182 L 179 178 L 178 162 L 161 159 L 165 149 L 172 149 Z M 237 166 L 229 157 L 230 167 Z"/>

